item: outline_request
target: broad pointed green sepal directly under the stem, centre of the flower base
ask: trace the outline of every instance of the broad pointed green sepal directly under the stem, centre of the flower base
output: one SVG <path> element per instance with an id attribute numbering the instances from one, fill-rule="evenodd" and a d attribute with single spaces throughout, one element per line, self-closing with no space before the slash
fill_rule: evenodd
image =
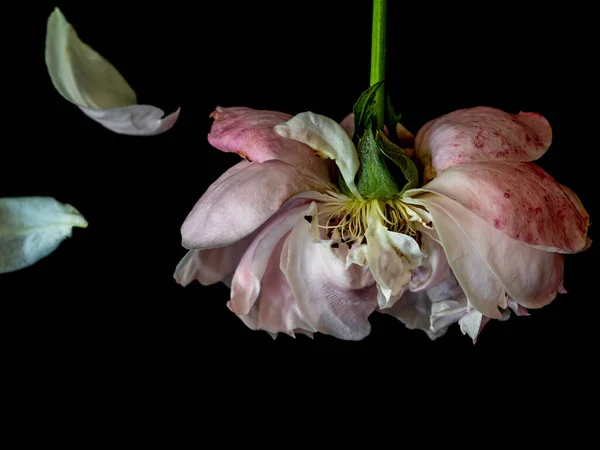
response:
<path id="1" fill-rule="evenodd" d="M 367 126 L 358 143 L 358 169 L 356 187 L 365 199 L 392 198 L 398 194 L 398 185 L 388 171 L 385 157 L 375 140 L 373 128 Z"/>

